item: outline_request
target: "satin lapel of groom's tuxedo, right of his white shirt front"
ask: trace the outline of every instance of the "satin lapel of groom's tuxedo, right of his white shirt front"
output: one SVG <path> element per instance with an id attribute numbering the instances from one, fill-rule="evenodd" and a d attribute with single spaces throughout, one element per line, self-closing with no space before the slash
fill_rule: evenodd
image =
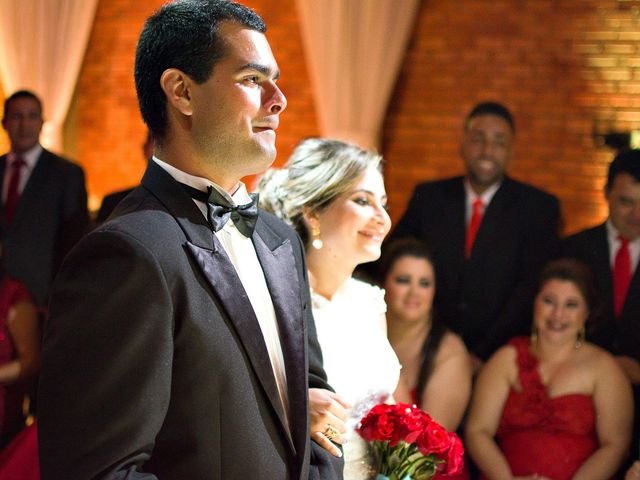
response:
<path id="1" fill-rule="evenodd" d="M 307 405 L 305 337 L 300 305 L 300 285 L 296 275 L 291 241 L 276 235 L 259 222 L 253 243 L 262 265 L 278 321 L 287 374 L 291 435 L 298 452 L 306 443 Z"/>

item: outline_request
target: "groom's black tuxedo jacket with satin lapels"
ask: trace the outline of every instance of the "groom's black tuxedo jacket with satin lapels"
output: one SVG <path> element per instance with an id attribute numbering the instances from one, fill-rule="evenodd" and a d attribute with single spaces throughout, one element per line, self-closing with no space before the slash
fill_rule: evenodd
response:
<path id="1" fill-rule="evenodd" d="M 277 316 L 290 428 L 232 263 L 191 198 L 150 162 L 53 287 L 43 480 L 341 478 L 341 463 L 309 441 L 307 389 L 327 384 L 302 244 L 265 212 L 252 240 Z"/>

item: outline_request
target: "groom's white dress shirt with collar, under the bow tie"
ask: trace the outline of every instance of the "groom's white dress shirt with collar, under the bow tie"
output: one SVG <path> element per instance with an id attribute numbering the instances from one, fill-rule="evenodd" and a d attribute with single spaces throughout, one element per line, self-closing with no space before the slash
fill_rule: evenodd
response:
<path id="1" fill-rule="evenodd" d="M 249 197 L 247 189 L 242 182 L 239 182 L 238 189 L 230 196 L 221 187 L 206 178 L 185 173 L 155 156 L 153 156 L 152 159 L 180 183 L 184 183 L 201 191 L 206 191 L 207 187 L 212 186 L 230 201 L 231 205 L 244 205 L 251 202 L 251 197 Z M 194 203 L 206 218 L 207 206 L 198 200 L 194 200 Z M 271 360 L 271 368 L 276 379 L 276 385 L 278 386 L 280 400 L 284 406 L 288 421 L 289 396 L 287 395 L 287 377 L 282 346 L 280 344 L 278 322 L 276 320 L 273 302 L 271 301 L 271 295 L 267 287 L 267 281 L 265 280 L 255 247 L 253 246 L 251 238 L 245 237 L 240 233 L 231 219 L 225 223 L 220 231 L 215 232 L 215 235 L 218 237 L 218 240 L 220 240 L 231 263 L 235 267 L 242 286 L 247 292 L 253 311 L 258 318 L 260 330 L 262 331 L 267 352 L 269 353 L 269 359 Z"/>

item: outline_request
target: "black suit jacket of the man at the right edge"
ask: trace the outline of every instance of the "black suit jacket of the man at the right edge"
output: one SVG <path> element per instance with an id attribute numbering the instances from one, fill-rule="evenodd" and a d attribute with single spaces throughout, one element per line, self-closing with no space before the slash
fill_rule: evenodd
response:
<path id="1" fill-rule="evenodd" d="M 616 318 L 606 225 L 603 223 L 567 237 L 563 241 L 562 252 L 591 267 L 603 302 L 602 318 L 588 332 L 588 339 L 614 355 L 640 360 L 640 268 L 636 268 L 622 313 Z"/>

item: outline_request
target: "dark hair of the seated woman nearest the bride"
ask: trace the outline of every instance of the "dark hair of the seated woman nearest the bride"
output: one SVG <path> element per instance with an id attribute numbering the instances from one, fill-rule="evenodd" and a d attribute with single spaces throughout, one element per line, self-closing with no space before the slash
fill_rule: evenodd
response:
<path id="1" fill-rule="evenodd" d="M 378 262 L 378 269 L 376 273 L 376 281 L 380 286 L 384 285 L 387 276 L 393 269 L 393 266 L 396 264 L 396 262 L 405 257 L 426 260 L 434 268 L 435 275 L 433 256 L 429 248 L 423 242 L 421 242 L 420 240 L 416 240 L 415 238 L 403 238 L 391 242 L 384 248 L 382 252 L 382 256 L 380 257 L 380 261 Z M 438 315 L 436 315 L 436 312 L 432 307 L 431 329 L 429 330 L 427 340 L 422 345 L 422 358 L 420 360 L 420 371 L 418 372 L 418 382 L 416 384 L 416 397 L 418 400 L 418 405 L 422 402 L 422 392 L 424 391 L 424 387 L 426 386 L 427 382 L 429 381 L 429 377 L 433 372 L 435 358 L 438 350 L 440 349 L 442 338 L 444 337 L 445 333 L 447 333 L 447 330 L 448 329 L 446 325 L 444 324 L 444 322 L 440 321 Z"/>

